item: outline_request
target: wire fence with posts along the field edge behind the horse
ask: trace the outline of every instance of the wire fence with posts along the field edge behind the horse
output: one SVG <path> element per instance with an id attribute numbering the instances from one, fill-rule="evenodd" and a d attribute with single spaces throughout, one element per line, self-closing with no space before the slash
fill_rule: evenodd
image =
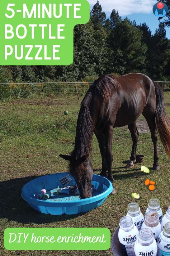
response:
<path id="1" fill-rule="evenodd" d="M 162 89 L 170 89 L 169 81 L 156 81 Z M 42 82 L 42 83 L 0 83 L 0 100 L 45 99 L 47 105 L 52 99 L 77 95 L 80 100 L 93 82 Z"/>

